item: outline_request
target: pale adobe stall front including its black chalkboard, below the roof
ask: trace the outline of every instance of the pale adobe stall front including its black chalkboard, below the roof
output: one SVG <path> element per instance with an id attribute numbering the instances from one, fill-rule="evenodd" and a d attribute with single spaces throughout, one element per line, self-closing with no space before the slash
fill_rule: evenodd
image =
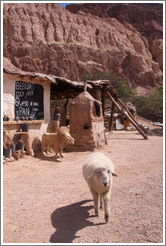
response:
<path id="1" fill-rule="evenodd" d="M 31 144 L 38 145 L 50 121 L 50 83 L 22 74 L 4 73 L 3 79 L 3 127 L 13 137 L 27 126 Z"/>

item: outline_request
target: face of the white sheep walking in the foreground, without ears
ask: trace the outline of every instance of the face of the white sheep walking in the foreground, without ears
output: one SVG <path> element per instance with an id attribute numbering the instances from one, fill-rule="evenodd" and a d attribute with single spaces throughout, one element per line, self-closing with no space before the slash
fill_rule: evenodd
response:
<path id="1" fill-rule="evenodd" d="M 111 170 L 104 168 L 97 168 L 94 171 L 97 183 L 101 183 L 104 187 L 109 187 L 111 184 Z"/>

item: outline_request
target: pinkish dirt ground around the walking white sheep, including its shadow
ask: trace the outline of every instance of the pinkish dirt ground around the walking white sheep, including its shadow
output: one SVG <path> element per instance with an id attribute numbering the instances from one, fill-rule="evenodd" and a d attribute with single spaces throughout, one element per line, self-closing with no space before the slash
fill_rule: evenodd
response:
<path id="1" fill-rule="evenodd" d="M 161 243 L 163 138 L 114 132 L 101 152 L 114 163 L 110 222 L 94 217 L 82 164 L 91 152 L 25 156 L 3 165 L 5 243 Z"/>

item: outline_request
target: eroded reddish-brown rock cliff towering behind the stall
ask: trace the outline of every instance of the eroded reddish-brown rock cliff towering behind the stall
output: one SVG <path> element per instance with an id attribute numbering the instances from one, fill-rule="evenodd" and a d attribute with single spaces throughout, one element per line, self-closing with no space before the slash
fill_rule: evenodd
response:
<path id="1" fill-rule="evenodd" d="M 140 4 L 138 21 L 130 16 L 133 4 L 122 5 L 4 3 L 4 56 L 24 71 L 80 80 L 98 70 L 134 87 L 156 87 L 162 84 L 162 5 Z"/>

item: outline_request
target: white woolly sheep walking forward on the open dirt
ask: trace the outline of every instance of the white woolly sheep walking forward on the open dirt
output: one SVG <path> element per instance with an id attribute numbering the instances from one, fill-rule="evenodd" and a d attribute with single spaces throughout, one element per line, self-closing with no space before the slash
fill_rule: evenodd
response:
<path id="1" fill-rule="evenodd" d="M 104 202 L 105 221 L 108 222 L 112 176 L 118 176 L 111 160 L 103 153 L 95 152 L 83 164 L 82 172 L 93 196 L 95 215 L 99 215 L 100 199 L 100 208 Z"/>

